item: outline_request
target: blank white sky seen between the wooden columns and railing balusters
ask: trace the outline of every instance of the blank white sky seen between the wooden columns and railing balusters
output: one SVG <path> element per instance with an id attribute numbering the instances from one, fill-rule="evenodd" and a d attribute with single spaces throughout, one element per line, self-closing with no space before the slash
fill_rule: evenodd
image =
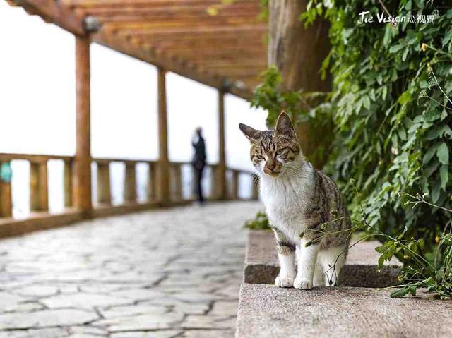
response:
<path id="1" fill-rule="evenodd" d="M 75 42 L 56 25 L 0 1 L 0 152 L 74 155 Z M 91 46 L 91 135 L 93 157 L 157 159 L 157 71 L 124 54 Z M 218 162 L 218 93 L 167 73 L 169 159 L 189 161 L 191 136 L 203 127 L 208 162 Z M 265 128 L 266 112 L 225 96 L 226 160 L 249 169 L 248 141 L 237 124 Z M 13 161 L 13 213 L 29 212 L 27 162 Z M 95 170 L 94 180 L 95 180 Z M 138 197 L 144 198 L 145 167 L 138 167 Z M 187 170 L 184 174 L 189 175 Z M 124 168 L 112 166 L 114 203 L 121 203 Z M 243 180 L 245 178 L 241 178 Z M 63 208 L 62 163 L 49 162 L 51 212 Z M 206 189 L 208 189 L 206 182 Z M 94 185 L 95 186 L 95 185 Z M 250 185 L 251 186 L 251 185 Z M 189 194 L 189 182 L 184 194 Z M 96 192 L 94 191 L 94 194 Z M 245 188 L 241 195 L 248 195 Z"/>

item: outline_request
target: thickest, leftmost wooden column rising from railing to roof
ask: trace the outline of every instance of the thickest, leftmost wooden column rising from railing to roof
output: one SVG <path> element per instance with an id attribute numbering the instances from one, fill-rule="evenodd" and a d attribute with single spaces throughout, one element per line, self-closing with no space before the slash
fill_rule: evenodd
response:
<path id="1" fill-rule="evenodd" d="M 91 217 L 91 135 L 90 135 L 90 38 L 76 37 L 76 158 L 73 200 L 84 217 Z"/>

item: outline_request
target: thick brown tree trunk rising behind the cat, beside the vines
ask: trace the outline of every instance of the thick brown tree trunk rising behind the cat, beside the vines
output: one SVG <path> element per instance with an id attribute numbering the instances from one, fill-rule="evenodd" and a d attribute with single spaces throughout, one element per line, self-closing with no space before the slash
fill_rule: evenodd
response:
<path id="1" fill-rule="evenodd" d="M 306 10 L 307 0 L 270 0 L 268 65 L 276 66 L 283 77 L 281 90 L 328 92 L 331 78 L 321 79 L 320 69 L 330 51 L 329 23 L 318 18 L 304 28 L 299 16 Z M 317 145 L 308 123 L 297 126 L 304 155 L 311 157 Z M 321 167 L 320 160 L 314 161 Z"/>

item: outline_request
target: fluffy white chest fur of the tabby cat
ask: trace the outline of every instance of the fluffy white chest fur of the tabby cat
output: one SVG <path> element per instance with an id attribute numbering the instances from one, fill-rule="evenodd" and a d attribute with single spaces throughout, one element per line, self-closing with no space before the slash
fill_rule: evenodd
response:
<path id="1" fill-rule="evenodd" d="M 310 164 L 273 178 L 261 174 L 261 198 L 270 224 L 295 243 L 306 229 L 304 211 L 314 193 L 314 169 Z"/>

